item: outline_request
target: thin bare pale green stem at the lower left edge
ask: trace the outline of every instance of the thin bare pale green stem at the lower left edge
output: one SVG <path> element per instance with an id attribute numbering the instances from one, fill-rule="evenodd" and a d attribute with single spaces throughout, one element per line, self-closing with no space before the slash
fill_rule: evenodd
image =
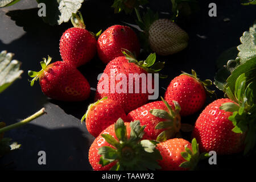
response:
<path id="1" fill-rule="evenodd" d="M 2 129 L 0 129 L 0 133 L 9 131 L 11 129 L 15 129 L 16 127 L 20 127 L 23 125 L 26 125 L 27 123 L 29 123 L 30 121 L 40 117 L 41 115 L 43 115 L 44 113 L 46 113 L 44 107 L 42 109 L 40 109 L 39 111 L 37 111 L 35 114 L 31 115 L 30 117 L 18 122 L 18 123 L 14 123 L 13 125 L 9 125 L 6 127 L 3 127 Z"/>

